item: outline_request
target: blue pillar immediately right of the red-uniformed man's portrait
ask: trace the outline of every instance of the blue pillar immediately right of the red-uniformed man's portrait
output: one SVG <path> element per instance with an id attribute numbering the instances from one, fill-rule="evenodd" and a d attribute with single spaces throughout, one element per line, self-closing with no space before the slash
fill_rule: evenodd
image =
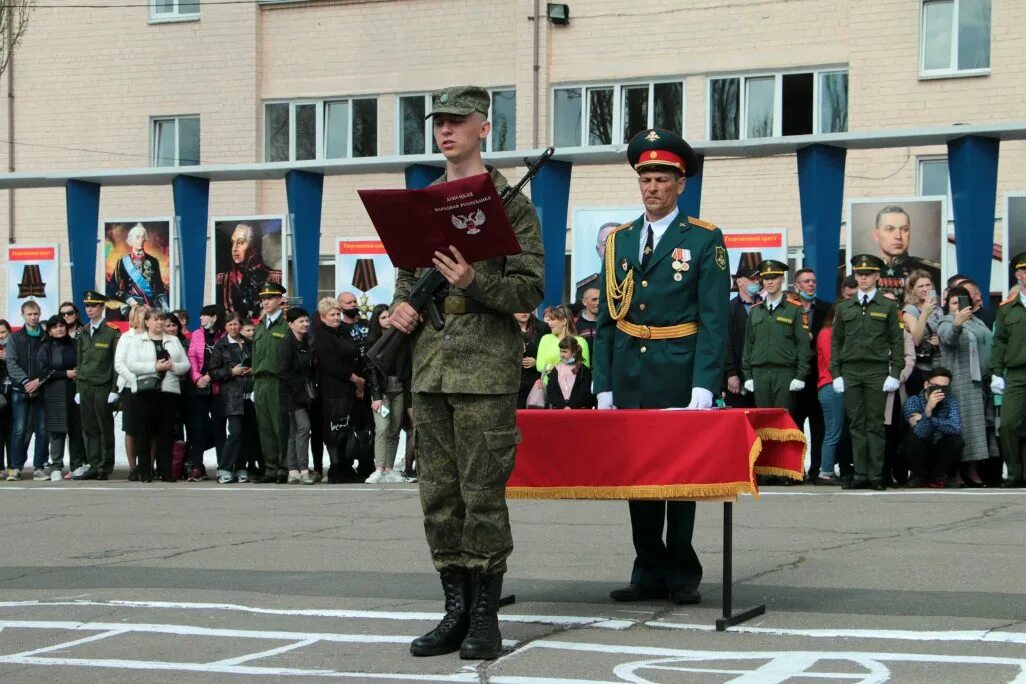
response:
<path id="1" fill-rule="evenodd" d="M 285 174 L 288 216 L 292 227 L 292 269 L 295 292 L 303 308 L 317 308 L 317 274 L 320 271 L 320 216 L 324 176 L 309 171 Z"/>

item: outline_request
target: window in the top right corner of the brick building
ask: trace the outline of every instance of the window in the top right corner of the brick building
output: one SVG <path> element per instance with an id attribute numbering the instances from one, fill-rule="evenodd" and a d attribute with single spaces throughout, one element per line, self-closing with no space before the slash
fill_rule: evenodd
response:
<path id="1" fill-rule="evenodd" d="M 988 72 L 990 3 L 991 0 L 923 0 L 920 75 Z"/>

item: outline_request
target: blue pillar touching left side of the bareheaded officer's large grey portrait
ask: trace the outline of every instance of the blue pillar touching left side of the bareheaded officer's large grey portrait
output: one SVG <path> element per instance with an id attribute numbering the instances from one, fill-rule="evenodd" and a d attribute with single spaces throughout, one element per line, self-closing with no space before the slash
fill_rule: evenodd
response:
<path id="1" fill-rule="evenodd" d="M 837 296 L 845 153 L 842 148 L 819 144 L 798 150 L 805 266 L 816 272 L 819 295 L 828 301 Z"/>

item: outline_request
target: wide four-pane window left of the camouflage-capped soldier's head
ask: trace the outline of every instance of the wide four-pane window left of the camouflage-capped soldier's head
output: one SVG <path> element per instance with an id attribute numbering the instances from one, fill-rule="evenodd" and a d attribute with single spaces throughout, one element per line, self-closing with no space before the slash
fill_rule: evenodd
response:
<path id="1" fill-rule="evenodd" d="M 264 106 L 264 161 L 346 159 L 377 154 L 374 97 Z"/>

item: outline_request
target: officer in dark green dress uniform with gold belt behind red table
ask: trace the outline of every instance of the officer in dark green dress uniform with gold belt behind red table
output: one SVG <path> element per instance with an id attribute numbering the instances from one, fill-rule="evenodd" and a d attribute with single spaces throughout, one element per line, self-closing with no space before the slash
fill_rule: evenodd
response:
<path id="1" fill-rule="evenodd" d="M 709 408 L 723 378 L 731 289 L 723 236 L 677 208 L 685 178 L 699 172 L 679 135 L 643 130 L 627 159 L 645 212 L 606 240 L 592 359 L 598 407 Z M 632 500 L 629 508 L 634 567 L 630 584 L 609 597 L 701 601 L 695 501 Z"/>

